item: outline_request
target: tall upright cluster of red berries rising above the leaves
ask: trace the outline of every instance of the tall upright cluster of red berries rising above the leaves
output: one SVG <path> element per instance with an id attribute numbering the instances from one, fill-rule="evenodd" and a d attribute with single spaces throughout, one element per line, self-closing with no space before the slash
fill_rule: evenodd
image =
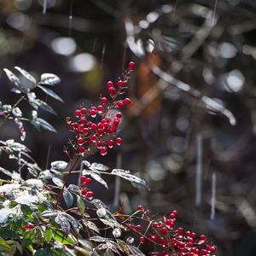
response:
<path id="1" fill-rule="evenodd" d="M 76 121 L 67 118 L 67 124 L 70 125 L 71 131 L 75 134 L 76 143 L 74 148 L 77 154 L 90 154 L 90 147 L 95 145 L 99 148 L 102 155 L 107 154 L 108 148 L 113 148 L 114 144 L 120 145 L 122 139 L 116 137 L 119 131 L 119 123 L 122 113 L 114 113 L 111 110 L 124 108 L 125 105 L 131 103 L 130 98 L 120 99 L 125 93 L 125 84 L 130 79 L 130 74 L 135 67 L 134 62 L 129 62 L 127 70 L 123 74 L 123 78 L 119 79 L 116 85 L 112 81 L 107 82 L 108 95 L 101 97 L 101 105 L 84 108 L 81 106 L 76 109 L 74 115 Z"/>

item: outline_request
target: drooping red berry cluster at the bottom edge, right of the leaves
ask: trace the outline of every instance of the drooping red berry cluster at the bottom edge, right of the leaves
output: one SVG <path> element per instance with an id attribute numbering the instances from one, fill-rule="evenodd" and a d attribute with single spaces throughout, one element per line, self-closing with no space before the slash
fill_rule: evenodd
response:
<path id="1" fill-rule="evenodd" d="M 148 242 L 154 245 L 152 256 L 215 256 L 216 247 L 207 244 L 205 235 L 197 236 L 194 232 L 184 231 L 182 227 L 174 228 L 176 224 L 177 211 L 172 211 L 168 216 L 158 220 L 151 219 L 148 210 L 144 210 L 142 206 L 137 207 L 137 213 L 141 212 L 142 216 L 136 216 L 136 219 L 146 221 L 148 226 L 144 228 L 141 224 L 127 224 L 130 230 L 133 230 L 139 236 L 138 242 L 140 246 Z M 127 220 L 131 218 L 127 218 Z M 134 217 L 135 219 L 135 217 Z M 156 250 L 156 248 L 159 248 Z"/>

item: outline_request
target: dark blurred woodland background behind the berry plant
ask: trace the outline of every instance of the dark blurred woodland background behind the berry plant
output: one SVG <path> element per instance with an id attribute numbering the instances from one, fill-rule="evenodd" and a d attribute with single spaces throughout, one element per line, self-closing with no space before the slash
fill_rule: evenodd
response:
<path id="1" fill-rule="evenodd" d="M 42 168 L 67 160 L 66 117 L 97 102 L 106 82 L 135 61 L 124 145 L 89 160 L 113 168 L 121 158 L 148 181 L 149 192 L 121 183 L 125 211 L 177 209 L 180 224 L 211 237 L 217 255 L 256 255 L 255 1 L 0 0 L 0 22 L 0 101 L 17 100 L 5 67 L 62 80 L 55 92 L 64 104 L 37 92 L 58 113 L 40 112 L 58 133 L 25 125 Z M 7 123 L 0 139 L 11 137 L 20 140 Z M 109 191 L 97 184 L 94 191 L 111 205 L 108 182 Z"/>

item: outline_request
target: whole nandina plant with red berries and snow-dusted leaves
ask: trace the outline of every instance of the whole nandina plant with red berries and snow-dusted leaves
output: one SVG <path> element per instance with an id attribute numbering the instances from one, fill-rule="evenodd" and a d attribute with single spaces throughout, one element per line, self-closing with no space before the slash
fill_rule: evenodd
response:
<path id="1" fill-rule="evenodd" d="M 108 96 L 101 96 L 97 106 L 79 106 L 73 117 L 67 117 L 67 125 L 73 133 L 70 146 L 64 149 L 70 159 L 68 163 L 56 160 L 44 170 L 32 159 L 32 153 L 24 144 L 12 138 L 0 141 L 1 153 L 17 164 L 13 172 L 0 167 L 0 171 L 10 177 L 0 180 L 1 255 L 214 255 L 216 247 L 206 236 L 176 226 L 177 211 L 158 218 L 143 206 L 137 206 L 130 215 L 125 214 L 122 207 L 111 212 L 90 189 L 94 182 L 108 189 L 104 175 L 119 176 L 148 187 L 143 179 L 129 171 L 109 170 L 108 166 L 85 160 L 96 150 L 108 157 L 108 150 L 122 143 L 118 136 L 121 109 L 131 102 L 124 93 L 134 67 L 134 62 L 129 62 L 117 84 L 107 82 Z M 30 86 L 21 84 L 14 73 L 5 69 L 20 99 L 14 105 L 1 104 L 1 127 L 5 122 L 15 120 L 22 141 L 26 137 L 23 121 L 37 129 L 55 131 L 47 121 L 38 118 L 38 108 L 51 113 L 54 110 L 38 99 L 34 90 L 39 88 L 61 100 L 48 88 L 60 79 L 54 74 L 43 74 L 37 82 L 30 73 L 20 67 L 16 69 Z M 23 100 L 34 108 L 28 117 L 19 108 Z M 77 170 L 77 166 L 81 168 Z M 21 170 L 29 172 L 31 178 L 24 180 L 20 176 Z M 73 174 L 79 174 L 79 183 L 67 185 Z M 64 206 L 61 205 L 62 198 Z"/>

